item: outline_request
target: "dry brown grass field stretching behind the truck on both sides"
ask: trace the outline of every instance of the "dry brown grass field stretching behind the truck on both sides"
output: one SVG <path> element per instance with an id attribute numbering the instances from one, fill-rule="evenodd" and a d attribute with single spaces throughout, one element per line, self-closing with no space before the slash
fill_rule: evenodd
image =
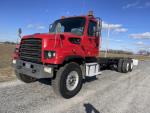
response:
<path id="1" fill-rule="evenodd" d="M 11 67 L 12 54 L 14 52 L 15 45 L 0 44 L 0 82 L 9 81 L 15 79 L 14 70 Z M 100 53 L 100 56 L 104 57 L 104 53 Z M 127 54 L 112 54 L 108 53 L 108 57 L 131 57 L 140 60 L 150 60 L 148 56 L 139 55 L 127 55 Z"/>

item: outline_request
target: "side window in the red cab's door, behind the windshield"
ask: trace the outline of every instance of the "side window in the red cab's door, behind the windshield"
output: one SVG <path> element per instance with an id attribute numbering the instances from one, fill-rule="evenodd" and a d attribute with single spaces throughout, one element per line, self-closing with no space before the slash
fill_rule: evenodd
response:
<path id="1" fill-rule="evenodd" d="M 96 22 L 90 21 L 88 27 L 88 36 L 95 36 L 94 29 L 96 29 Z"/>

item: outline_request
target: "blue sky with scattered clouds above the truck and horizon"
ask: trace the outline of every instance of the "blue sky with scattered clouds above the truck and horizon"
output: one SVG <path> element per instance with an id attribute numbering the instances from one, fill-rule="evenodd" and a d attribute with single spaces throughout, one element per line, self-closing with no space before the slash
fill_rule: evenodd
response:
<path id="1" fill-rule="evenodd" d="M 150 51 L 150 0 L 0 0 L 0 42 L 22 35 L 48 32 L 61 16 L 86 15 L 92 10 L 103 20 L 102 49 Z"/>

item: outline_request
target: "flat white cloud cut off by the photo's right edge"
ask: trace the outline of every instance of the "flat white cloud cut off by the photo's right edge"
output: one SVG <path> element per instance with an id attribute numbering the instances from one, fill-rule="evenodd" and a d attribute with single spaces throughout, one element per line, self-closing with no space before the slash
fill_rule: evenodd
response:
<path id="1" fill-rule="evenodd" d="M 150 32 L 130 34 L 129 37 L 134 39 L 150 39 Z"/>

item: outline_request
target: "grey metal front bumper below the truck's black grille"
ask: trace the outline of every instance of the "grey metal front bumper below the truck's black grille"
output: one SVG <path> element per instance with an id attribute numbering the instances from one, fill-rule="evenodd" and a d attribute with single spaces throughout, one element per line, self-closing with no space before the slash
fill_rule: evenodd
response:
<path id="1" fill-rule="evenodd" d="M 16 73 L 24 74 L 37 79 L 52 78 L 54 73 L 54 67 L 52 66 L 45 66 L 23 60 L 13 61 L 13 66 Z"/>

